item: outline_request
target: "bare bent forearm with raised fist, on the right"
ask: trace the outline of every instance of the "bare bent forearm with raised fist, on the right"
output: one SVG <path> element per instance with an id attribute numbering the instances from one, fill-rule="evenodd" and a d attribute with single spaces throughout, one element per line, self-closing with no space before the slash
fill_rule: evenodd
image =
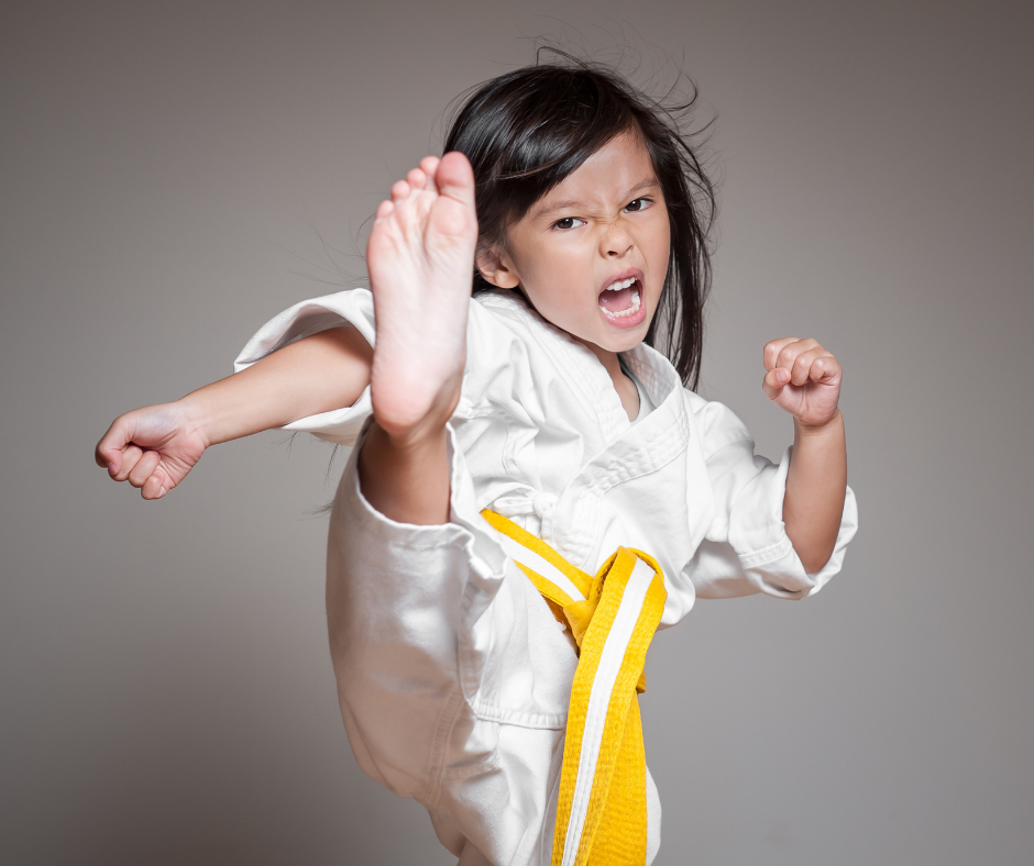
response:
<path id="1" fill-rule="evenodd" d="M 793 415 L 793 456 L 783 522 L 804 570 L 829 560 L 847 491 L 844 417 L 837 408 L 843 373 L 815 340 L 782 337 L 765 346 L 766 396 Z"/>

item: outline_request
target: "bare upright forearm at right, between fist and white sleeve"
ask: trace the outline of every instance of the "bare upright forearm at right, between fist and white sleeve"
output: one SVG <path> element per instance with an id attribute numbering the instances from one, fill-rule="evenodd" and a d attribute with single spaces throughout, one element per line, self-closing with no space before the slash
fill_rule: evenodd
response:
<path id="1" fill-rule="evenodd" d="M 783 522 L 804 570 L 814 574 L 836 544 L 847 491 L 844 417 L 810 426 L 794 420 L 793 456 L 787 476 Z"/>

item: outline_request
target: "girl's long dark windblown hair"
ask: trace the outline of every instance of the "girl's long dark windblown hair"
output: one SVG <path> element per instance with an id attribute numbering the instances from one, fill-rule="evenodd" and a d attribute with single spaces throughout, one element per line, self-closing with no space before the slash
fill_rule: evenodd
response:
<path id="1" fill-rule="evenodd" d="M 635 132 L 660 181 L 671 224 L 668 274 L 646 342 L 663 348 L 682 381 L 700 380 L 703 308 L 711 287 L 706 236 L 714 187 L 680 127 L 696 90 L 666 108 L 617 73 L 562 52 L 479 86 L 460 108 L 444 151 L 470 159 L 479 245 L 506 248 L 506 230 L 615 136 Z M 475 271 L 474 292 L 492 289 Z M 658 346 L 658 343 L 661 345 Z"/>

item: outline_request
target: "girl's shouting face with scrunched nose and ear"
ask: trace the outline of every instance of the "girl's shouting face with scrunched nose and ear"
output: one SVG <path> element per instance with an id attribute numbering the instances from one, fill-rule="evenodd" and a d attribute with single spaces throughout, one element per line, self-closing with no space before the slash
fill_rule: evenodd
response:
<path id="1" fill-rule="evenodd" d="M 668 273 L 668 208 L 650 155 L 625 133 L 531 206 L 482 274 L 605 352 L 646 336 Z M 630 285 L 629 284 L 631 281 Z M 612 289 L 610 287 L 614 287 Z"/>

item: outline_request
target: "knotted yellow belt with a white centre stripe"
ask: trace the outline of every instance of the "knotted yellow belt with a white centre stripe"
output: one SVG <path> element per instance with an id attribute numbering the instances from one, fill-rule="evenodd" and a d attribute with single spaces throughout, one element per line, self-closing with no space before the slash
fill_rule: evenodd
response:
<path id="1" fill-rule="evenodd" d="M 636 692 L 646 690 L 642 666 L 668 597 L 661 568 L 618 547 L 592 577 L 502 514 L 481 513 L 579 646 L 552 866 L 642 866 L 646 754 Z"/>

